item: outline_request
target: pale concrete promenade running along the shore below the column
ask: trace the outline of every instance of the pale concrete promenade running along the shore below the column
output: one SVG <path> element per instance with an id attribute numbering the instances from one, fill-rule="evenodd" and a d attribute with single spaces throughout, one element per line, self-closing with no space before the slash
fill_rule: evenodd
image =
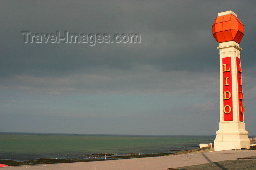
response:
<path id="1" fill-rule="evenodd" d="M 79 163 L 59 163 L 48 165 L 31 166 L 12 166 L 2 167 L 0 170 L 18 170 L 18 169 L 121 169 L 121 170 L 141 170 L 141 169 L 160 169 L 184 167 L 204 163 L 237 160 L 237 158 L 256 156 L 256 150 L 226 150 L 212 151 L 203 153 L 191 153 L 182 155 L 167 155 L 162 157 L 148 157 L 135 159 L 119 159 L 110 161 L 79 162 Z"/>

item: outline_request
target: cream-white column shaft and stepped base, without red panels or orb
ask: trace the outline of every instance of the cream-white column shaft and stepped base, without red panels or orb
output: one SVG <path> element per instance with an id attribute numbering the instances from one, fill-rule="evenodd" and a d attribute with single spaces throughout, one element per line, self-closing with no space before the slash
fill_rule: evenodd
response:
<path id="1" fill-rule="evenodd" d="M 250 148 L 250 140 L 248 139 L 248 132 L 245 130 L 244 120 L 239 119 L 239 93 L 238 93 L 238 77 L 237 77 L 237 58 L 240 59 L 240 50 L 239 44 L 234 41 L 222 42 L 219 43 L 219 54 L 220 54 L 220 122 L 219 130 L 216 132 L 216 139 L 214 141 L 214 150 L 230 150 L 230 149 L 241 149 L 241 148 Z M 223 58 L 231 57 L 231 81 L 226 83 L 225 77 L 223 77 Z M 232 114 L 233 119 L 225 121 L 224 120 L 224 97 L 223 97 L 223 86 L 229 84 L 232 86 Z M 228 93 L 226 93 L 228 98 Z M 227 108 L 227 111 L 229 109 Z M 230 114 L 230 113 L 228 113 Z M 246 114 L 246 112 L 244 113 Z M 225 115 L 226 116 L 226 115 Z M 241 115 L 240 115 L 241 116 Z"/>

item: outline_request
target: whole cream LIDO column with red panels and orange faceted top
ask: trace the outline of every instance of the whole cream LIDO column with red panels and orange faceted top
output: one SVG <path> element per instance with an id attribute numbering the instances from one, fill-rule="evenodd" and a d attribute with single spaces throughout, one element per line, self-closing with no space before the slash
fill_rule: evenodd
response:
<path id="1" fill-rule="evenodd" d="M 242 92 L 242 67 L 239 43 L 244 25 L 233 11 L 218 13 L 212 35 L 219 43 L 220 57 L 220 122 L 214 140 L 215 151 L 250 148 L 245 130 Z"/>

